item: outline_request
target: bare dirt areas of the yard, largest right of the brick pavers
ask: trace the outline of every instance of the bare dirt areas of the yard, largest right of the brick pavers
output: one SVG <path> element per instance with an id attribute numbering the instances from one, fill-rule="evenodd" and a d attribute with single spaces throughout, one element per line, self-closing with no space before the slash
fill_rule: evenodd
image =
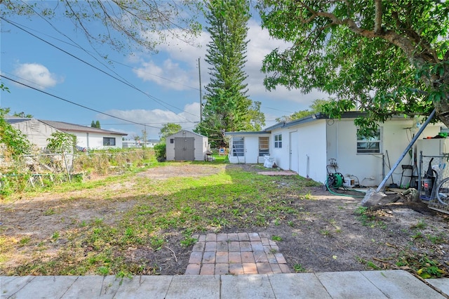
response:
<path id="1" fill-rule="evenodd" d="M 261 171 L 251 165 L 224 165 L 222 167 L 243 167 L 246 171 Z M 222 168 L 201 165 L 170 165 L 152 168 L 140 176 L 153 180 L 164 180 L 176 176 L 210 175 Z M 273 177 L 273 183 L 279 188 L 288 188 L 281 176 Z M 126 192 L 128 185 L 103 186 L 103 192 Z M 35 197 L 20 199 L 13 203 L 2 204 L 1 234 L 6 236 L 33 234 L 48 236 L 55 230 L 71 225 L 71 217 L 77 220 L 93 219 L 98 216 L 105 222 L 114 221 L 105 215 L 114 215 L 108 211 L 126 210 L 132 201 L 110 201 L 95 206 L 95 201 L 79 205 L 70 199 L 83 197 L 82 191 L 70 192 L 61 198 Z M 288 214 L 286 219 L 271 223 L 266 228 L 254 227 L 253 231 L 266 232 L 281 237 L 276 241 L 290 269 L 294 272 L 331 272 L 373 269 L 408 269 L 419 263 L 435 261 L 438 269 L 447 272 L 449 268 L 449 215 L 436 213 L 427 208 L 388 207 L 366 215 L 360 211 L 360 197 L 330 194 L 326 187 L 309 187 L 307 199 L 291 199 L 291 206 L 302 213 L 300 222 L 297 215 Z M 58 203 L 55 206 L 55 203 Z M 49 208 L 59 209 L 58 218 L 48 217 Z M 304 217 L 305 215 L 305 217 Z M 113 216 L 111 216 L 113 217 Z M 64 221 L 61 221 L 64 219 Z M 295 225 L 291 223 L 295 222 Z M 290 225 L 288 224 L 290 223 Z M 222 232 L 241 232 L 236 227 L 225 227 Z M 158 261 L 159 274 L 183 274 L 187 267 L 190 249 L 180 246 L 180 234 L 173 234 L 168 243 L 156 252 L 139 252 L 130 248 L 128 258 L 145 255 Z M 64 243 L 64 239 L 58 240 Z M 176 259 L 173 257 L 176 253 Z M 20 263 L 20 260 L 7 263 Z M 429 264 L 429 263 L 427 263 Z M 445 274 L 443 273 L 443 276 Z"/>

